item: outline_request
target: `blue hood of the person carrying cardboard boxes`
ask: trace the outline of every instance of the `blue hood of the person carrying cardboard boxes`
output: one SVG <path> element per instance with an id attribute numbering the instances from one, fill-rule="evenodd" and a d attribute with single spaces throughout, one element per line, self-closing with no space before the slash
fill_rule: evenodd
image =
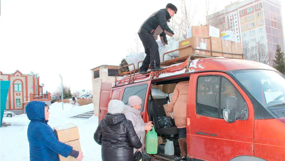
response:
<path id="1" fill-rule="evenodd" d="M 47 121 L 44 116 L 45 103 L 42 101 L 32 101 L 26 106 L 26 113 L 29 120 Z"/>

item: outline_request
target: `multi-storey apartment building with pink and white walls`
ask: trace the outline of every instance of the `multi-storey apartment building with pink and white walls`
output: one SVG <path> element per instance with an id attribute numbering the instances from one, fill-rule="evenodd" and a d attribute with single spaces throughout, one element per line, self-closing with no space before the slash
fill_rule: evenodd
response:
<path id="1" fill-rule="evenodd" d="M 284 51 L 281 3 L 278 0 L 237 1 L 207 16 L 207 23 L 221 31 L 237 33 L 237 41 L 247 41 L 253 51 L 256 50 L 256 42 L 263 43 L 269 65 L 273 65 L 277 44 Z M 258 54 L 254 53 L 253 57 L 258 57 Z"/>

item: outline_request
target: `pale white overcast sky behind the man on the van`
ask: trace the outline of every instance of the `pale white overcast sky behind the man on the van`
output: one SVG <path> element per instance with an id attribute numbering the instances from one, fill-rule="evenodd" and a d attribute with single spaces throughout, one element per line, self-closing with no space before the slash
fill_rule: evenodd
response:
<path id="1" fill-rule="evenodd" d="M 191 11 L 197 7 L 193 25 L 206 22 L 204 1 L 192 0 Z M 144 20 L 167 3 L 179 14 L 180 0 L 1 0 L 0 70 L 38 73 L 44 91 L 60 86 L 59 74 L 72 91 L 92 89 L 90 69 L 119 65 L 135 48 Z M 211 0 L 210 11 L 229 4 Z M 284 17 L 283 12 L 283 22 Z"/>

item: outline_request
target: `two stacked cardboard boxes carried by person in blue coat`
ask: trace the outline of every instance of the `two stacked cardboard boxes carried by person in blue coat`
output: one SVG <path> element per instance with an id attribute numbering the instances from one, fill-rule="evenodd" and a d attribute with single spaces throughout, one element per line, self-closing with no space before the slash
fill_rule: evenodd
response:
<path id="1" fill-rule="evenodd" d="M 57 135 L 57 138 L 60 142 L 66 143 L 73 147 L 74 150 L 81 151 L 80 142 L 79 142 L 79 130 L 78 127 L 74 124 L 67 124 L 64 126 L 54 127 L 54 132 Z M 76 158 L 68 156 L 65 158 L 58 154 L 60 161 L 76 161 Z"/>

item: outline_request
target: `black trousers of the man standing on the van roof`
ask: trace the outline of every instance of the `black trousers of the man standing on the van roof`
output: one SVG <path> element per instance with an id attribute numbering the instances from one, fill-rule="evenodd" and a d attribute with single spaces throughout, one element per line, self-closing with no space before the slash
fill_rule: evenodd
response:
<path id="1" fill-rule="evenodd" d="M 143 42 L 144 52 L 146 53 L 146 57 L 143 60 L 140 70 L 147 71 L 149 65 L 150 69 L 160 67 L 158 44 L 154 37 L 147 32 L 139 33 L 139 37 Z"/>

